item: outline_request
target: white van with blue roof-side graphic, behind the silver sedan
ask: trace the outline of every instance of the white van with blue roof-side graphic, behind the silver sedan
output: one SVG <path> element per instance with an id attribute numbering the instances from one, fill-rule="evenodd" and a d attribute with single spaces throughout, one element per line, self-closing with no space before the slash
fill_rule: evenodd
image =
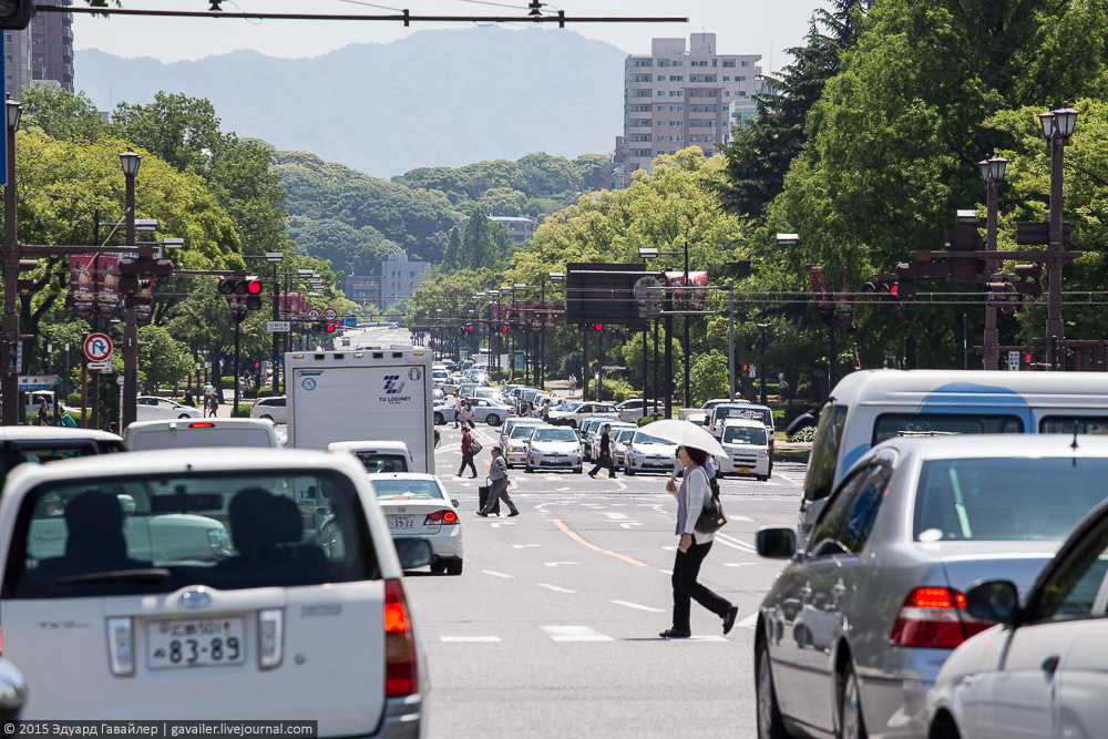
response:
<path id="1" fill-rule="evenodd" d="M 800 417 L 790 432 L 814 421 Z M 957 433 L 1108 433 L 1108 372 L 862 370 L 820 410 L 798 530 L 811 532 L 823 501 L 885 439 Z"/>

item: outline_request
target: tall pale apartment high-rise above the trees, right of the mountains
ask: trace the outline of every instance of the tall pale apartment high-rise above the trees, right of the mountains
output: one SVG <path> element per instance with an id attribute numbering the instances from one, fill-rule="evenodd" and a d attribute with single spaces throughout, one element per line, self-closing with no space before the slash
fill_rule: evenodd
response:
<path id="1" fill-rule="evenodd" d="M 624 64 L 624 182 L 659 154 L 696 145 L 716 152 L 733 121 L 728 105 L 763 88 L 759 54 L 720 54 L 715 33 L 654 39 Z"/>

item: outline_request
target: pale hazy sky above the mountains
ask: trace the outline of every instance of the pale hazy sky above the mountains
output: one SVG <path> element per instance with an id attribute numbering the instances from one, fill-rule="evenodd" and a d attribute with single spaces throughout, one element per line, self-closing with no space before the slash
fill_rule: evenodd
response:
<path id="1" fill-rule="evenodd" d="M 76 0 L 75 4 L 83 4 Z M 207 0 L 126 0 L 126 8 L 206 10 Z M 526 14 L 526 0 L 223 0 L 227 11 L 387 13 L 407 6 L 422 14 Z M 648 53 L 653 37 L 717 34 L 720 53 L 762 55 L 762 69 L 779 69 L 784 49 L 801 42 L 820 0 L 561 0 L 550 3 L 567 16 L 688 16 L 678 23 L 581 23 L 566 25 L 589 39 L 615 44 L 628 53 Z M 377 6 L 377 7 L 373 7 Z M 501 7 L 509 6 L 509 7 Z M 383 10 L 388 7 L 388 10 Z M 350 43 L 387 43 L 418 30 L 464 28 L 465 24 L 339 21 L 257 21 L 103 19 L 78 14 L 76 49 L 100 49 L 120 57 L 153 57 L 172 62 L 253 49 L 273 57 L 316 57 Z M 80 76 L 80 70 L 78 70 Z"/>

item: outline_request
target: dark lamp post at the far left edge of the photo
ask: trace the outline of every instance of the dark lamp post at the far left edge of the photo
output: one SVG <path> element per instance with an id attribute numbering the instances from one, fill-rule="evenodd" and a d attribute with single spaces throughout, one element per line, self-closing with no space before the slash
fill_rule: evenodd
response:
<path id="1" fill-rule="evenodd" d="M 19 239 L 16 236 L 16 132 L 23 106 L 8 99 L 7 112 L 8 173 L 3 188 L 3 382 L 0 383 L 0 400 L 4 425 L 19 423 L 19 370 L 16 358 L 19 343 Z"/>

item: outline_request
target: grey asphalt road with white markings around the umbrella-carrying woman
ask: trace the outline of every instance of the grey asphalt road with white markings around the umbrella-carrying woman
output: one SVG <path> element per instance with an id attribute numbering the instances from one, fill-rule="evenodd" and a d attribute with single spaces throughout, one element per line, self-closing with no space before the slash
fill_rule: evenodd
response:
<path id="1" fill-rule="evenodd" d="M 728 479 L 730 523 L 701 582 L 739 607 L 735 629 L 693 606 L 688 640 L 666 640 L 675 502 L 663 475 L 526 474 L 509 489 L 522 515 L 475 515 L 479 480 L 454 478 L 460 432 L 439 427 L 440 479 L 461 502 L 461 576 L 406 583 L 425 650 L 429 736 L 753 737 L 753 616 L 780 566 L 753 553 L 753 533 L 793 525 L 804 469 Z M 485 450 L 499 431 L 478 427 Z M 506 516 L 507 510 L 504 509 Z"/>

